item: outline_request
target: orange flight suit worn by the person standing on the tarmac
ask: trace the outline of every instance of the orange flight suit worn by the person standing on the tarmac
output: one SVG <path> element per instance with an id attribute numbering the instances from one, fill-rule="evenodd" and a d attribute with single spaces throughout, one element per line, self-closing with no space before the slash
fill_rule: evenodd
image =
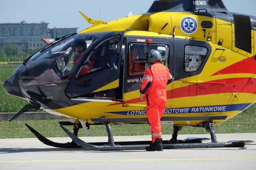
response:
<path id="1" fill-rule="evenodd" d="M 144 71 L 141 94 L 145 94 L 146 111 L 151 126 L 152 142 L 162 138 L 161 117 L 166 107 L 166 86 L 172 78 L 169 69 L 156 61 Z"/>

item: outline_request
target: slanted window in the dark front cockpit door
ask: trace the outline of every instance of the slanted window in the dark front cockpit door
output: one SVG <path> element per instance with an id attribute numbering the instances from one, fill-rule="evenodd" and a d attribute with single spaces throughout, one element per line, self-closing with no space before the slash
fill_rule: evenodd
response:
<path id="1" fill-rule="evenodd" d="M 80 78 L 98 70 L 116 66 L 118 62 L 118 47 L 120 36 L 112 37 L 102 41 L 93 51 L 90 52 L 82 66 L 80 67 L 76 78 Z"/>

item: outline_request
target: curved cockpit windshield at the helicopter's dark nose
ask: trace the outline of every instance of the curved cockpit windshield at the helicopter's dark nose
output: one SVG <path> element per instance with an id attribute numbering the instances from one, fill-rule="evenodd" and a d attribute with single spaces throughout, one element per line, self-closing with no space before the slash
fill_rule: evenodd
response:
<path id="1" fill-rule="evenodd" d="M 79 65 L 76 63 L 82 61 L 93 44 L 113 34 L 114 31 L 74 34 L 39 51 L 25 63 L 27 71 L 22 77 L 33 77 L 26 85 L 62 81 L 75 72 Z"/>

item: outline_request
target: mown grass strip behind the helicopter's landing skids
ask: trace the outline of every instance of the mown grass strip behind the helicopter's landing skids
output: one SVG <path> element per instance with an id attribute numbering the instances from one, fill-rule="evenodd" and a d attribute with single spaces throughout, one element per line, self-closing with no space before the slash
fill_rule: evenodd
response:
<path id="1" fill-rule="evenodd" d="M 2 121 L 0 122 L 0 138 L 32 138 L 34 135 L 25 126 L 25 123 L 33 127 L 44 137 L 68 137 L 60 128 L 61 120 L 38 121 Z M 216 133 L 256 133 L 256 117 L 254 109 L 247 109 L 243 113 L 214 126 Z M 66 126 L 69 131 L 72 126 Z M 162 125 L 163 135 L 172 134 L 172 125 Z M 105 125 L 91 125 L 90 130 L 96 134 L 85 133 L 80 129 L 78 136 L 107 136 Z M 150 126 L 147 124 L 112 125 L 114 136 L 151 135 Z M 202 127 L 182 127 L 179 134 L 208 134 Z"/>

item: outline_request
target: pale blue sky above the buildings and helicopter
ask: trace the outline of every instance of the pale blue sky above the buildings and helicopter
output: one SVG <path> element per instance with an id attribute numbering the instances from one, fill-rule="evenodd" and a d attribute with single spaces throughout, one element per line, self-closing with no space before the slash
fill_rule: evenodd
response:
<path id="1" fill-rule="evenodd" d="M 78 31 L 91 24 L 78 12 L 89 18 L 111 21 L 148 11 L 154 0 L 1 0 L 0 23 L 41 23 L 48 28 L 74 28 Z M 256 0 L 222 0 L 230 12 L 256 16 Z M 100 10 L 101 9 L 101 10 Z"/>

